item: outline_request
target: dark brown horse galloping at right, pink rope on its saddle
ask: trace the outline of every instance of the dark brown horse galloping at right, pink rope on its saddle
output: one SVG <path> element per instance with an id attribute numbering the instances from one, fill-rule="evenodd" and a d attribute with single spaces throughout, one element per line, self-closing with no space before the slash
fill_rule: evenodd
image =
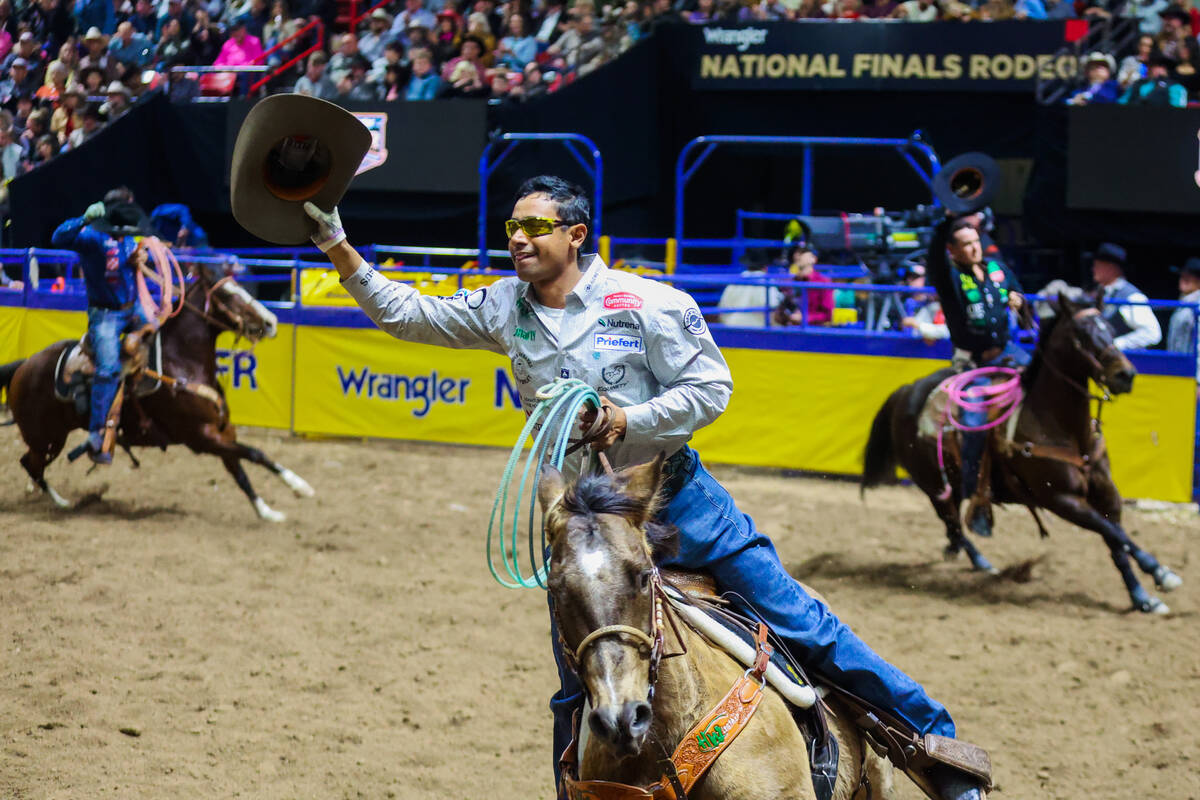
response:
<path id="1" fill-rule="evenodd" d="M 1108 450 L 1099 420 L 1092 417 L 1087 389 L 1087 381 L 1093 380 L 1114 395 L 1130 391 L 1133 365 L 1114 344 L 1098 305 L 1074 305 L 1060 297 L 1055 312 L 1042 323 L 1038 350 L 1022 377 L 1025 401 L 1015 428 L 1010 435 L 1007 426 L 991 432 L 989 459 L 979 480 L 990 485 L 996 501 L 1027 506 L 1036 519 L 1037 509 L 1048 509 L 1099 534 L 1109 546 L 1134 607 L 1165 614 L 1169 608 L 1141 587 L 1129 558 L 1154 578 L 1162 591 L 1177 588 L 1182 581 L 1139 548 L 1121 527 L 1121 494 L 1112 482 Z M 937 465 L 936 441 L 925 407 L 930 395 L 950 374 L 953 371 L 943 369 L 901 386 L 883 403 L 866 444 L 862 487 L 894 482 L 895 468 L 902 467 L 929 495 L 946 524 L 947 558 L 966 551 L 976 569 L 994 571 L 962 530 L 958 434 L 950 432 L 946 433 L 944 461 L 952 491 L 948 498 L 942 494 L 946 481 Z M 935 432 L 937 425 L 941 420 L 935 420 Z M 1038 528 L 1045 535 L 1040 519 Z"/>

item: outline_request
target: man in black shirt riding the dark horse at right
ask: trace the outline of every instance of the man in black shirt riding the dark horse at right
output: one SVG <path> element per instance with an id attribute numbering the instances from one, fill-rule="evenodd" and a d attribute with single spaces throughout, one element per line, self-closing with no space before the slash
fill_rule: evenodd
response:
<path id="1" fill-rule="evenodd" d="M 952 263 L 947 263 L 947 251 Z M 970 218 L 947 218 L 940 223 L 925 260 L 954 347 L 971 354 L 976 367 L 1028 366 L 1030 354 L 1008 336 L 1008 309 L 1018 311 L 1025 301 L 1021 284 L 1002 263 L 983 260 L 979 231 Z M 983 377 L 971 386 L 988 383 L 989 378 Z M 988 421 L 986 411 L 962 409 L 960 421 L 967 427 L 979 427 Z M 988 432 L 961 435 L 962 497 L 972 498 L 967 527 L 980 536 L 990 536 L 988 487 L 977 486 Z"/>

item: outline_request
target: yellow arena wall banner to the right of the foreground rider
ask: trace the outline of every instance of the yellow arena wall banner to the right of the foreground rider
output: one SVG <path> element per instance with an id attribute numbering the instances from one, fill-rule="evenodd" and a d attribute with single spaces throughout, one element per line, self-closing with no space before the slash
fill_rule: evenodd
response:
<path id="1" fill-rule="evenodd" d="M 857 475 L 876 411 L 895 389 L 946 366 L 888 356 L 725 349 L 733 398 L 696 434 L 707 461 Z M 1192 499 L 1195 383 L 1138 375 L 1104 411 L 1126 497 Z"/>

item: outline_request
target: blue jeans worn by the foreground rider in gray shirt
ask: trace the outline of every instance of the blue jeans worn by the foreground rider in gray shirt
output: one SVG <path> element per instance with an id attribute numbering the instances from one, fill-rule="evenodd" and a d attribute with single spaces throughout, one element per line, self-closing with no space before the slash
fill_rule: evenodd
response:
<path id="1" fill-rule="evenodd" d="M 691 479 L 659 513 L 659 519 L 676 525 L 680 534 L 679 554 L 664 566 L 703 570 L 716 579 L 720 591 L 744 597 L 814 678 L 892 711 L 922 734 L 953 736 L 954 722 L 946 708 L 804 591 L 784 569 L 775 546 L 755 528 L 754 519 L 738 510 L 725 487 L 700 463 L 700 456 L 690 449 L 689 455 Z M 570 742 L 571 715 L 582 705 L 583 693 L 558 652 L 557 631 L 551 630 L 551 637 L 562 680 L 562 688 L 550 702 L 557 775 L 557 759 Z"/>

